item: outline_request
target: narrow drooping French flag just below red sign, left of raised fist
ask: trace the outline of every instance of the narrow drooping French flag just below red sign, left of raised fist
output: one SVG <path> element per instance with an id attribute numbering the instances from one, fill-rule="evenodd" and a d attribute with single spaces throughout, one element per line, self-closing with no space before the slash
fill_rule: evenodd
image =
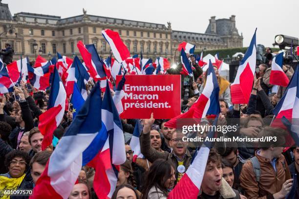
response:
<path id="1" fill-rule="evenodd" d="M 134 127 L 134 131 L 133 131 L 133 135 L 132 135 L 132 138 L 130 141 L 130 147 L 134 151 L 133 162 L 135 162 L 137 158 L 144 157 L 140 150 L 140 140 L 139 140 L 142 129 L 143 129 L 143 126 L 140 122 L 140 119 L 137 119 L 135 127 Z"/>

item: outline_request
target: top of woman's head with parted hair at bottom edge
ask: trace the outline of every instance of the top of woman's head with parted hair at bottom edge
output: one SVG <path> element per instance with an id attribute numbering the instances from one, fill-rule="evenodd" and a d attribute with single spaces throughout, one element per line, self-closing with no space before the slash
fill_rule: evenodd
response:
<path id="1" fill-rule="evenodd" d="M 111 199 L 139 199 L 136 190 L 129 184 L 123 184 L 118 186 Z"/>

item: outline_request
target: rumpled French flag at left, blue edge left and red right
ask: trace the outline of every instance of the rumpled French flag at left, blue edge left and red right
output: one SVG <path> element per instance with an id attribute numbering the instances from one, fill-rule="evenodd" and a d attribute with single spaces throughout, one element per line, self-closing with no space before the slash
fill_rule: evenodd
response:
<path id="1" fill-rule="evenodd" d="M 50 76 L 53 70 L 54 66 L 50 62 L 37 68 L 32 68 L 29 65 L 28 77 L 31 85 L 38 90 L 46 90 L 50 86 Z"/>

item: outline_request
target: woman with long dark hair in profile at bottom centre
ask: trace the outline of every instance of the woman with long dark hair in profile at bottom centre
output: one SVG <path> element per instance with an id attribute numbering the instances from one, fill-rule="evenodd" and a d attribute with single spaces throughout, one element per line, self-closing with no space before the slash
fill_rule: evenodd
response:
<path id="1" fill-rule="evenodd" d="M 175 171 L 164 159 L 155 160 L 149 168 L 142 199 L 167 199 L 174 186 Z"/>

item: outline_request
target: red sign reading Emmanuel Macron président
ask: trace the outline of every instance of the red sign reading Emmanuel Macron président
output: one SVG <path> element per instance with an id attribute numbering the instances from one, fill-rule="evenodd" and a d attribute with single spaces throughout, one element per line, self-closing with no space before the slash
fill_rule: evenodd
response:
<path id="1" fill-rule="evenodd" d="M 122 79 L 116 76 L 116 85 Z M 181 113 L 180 75 L 126 75 L 122 119 L 171 119 Z"/>

